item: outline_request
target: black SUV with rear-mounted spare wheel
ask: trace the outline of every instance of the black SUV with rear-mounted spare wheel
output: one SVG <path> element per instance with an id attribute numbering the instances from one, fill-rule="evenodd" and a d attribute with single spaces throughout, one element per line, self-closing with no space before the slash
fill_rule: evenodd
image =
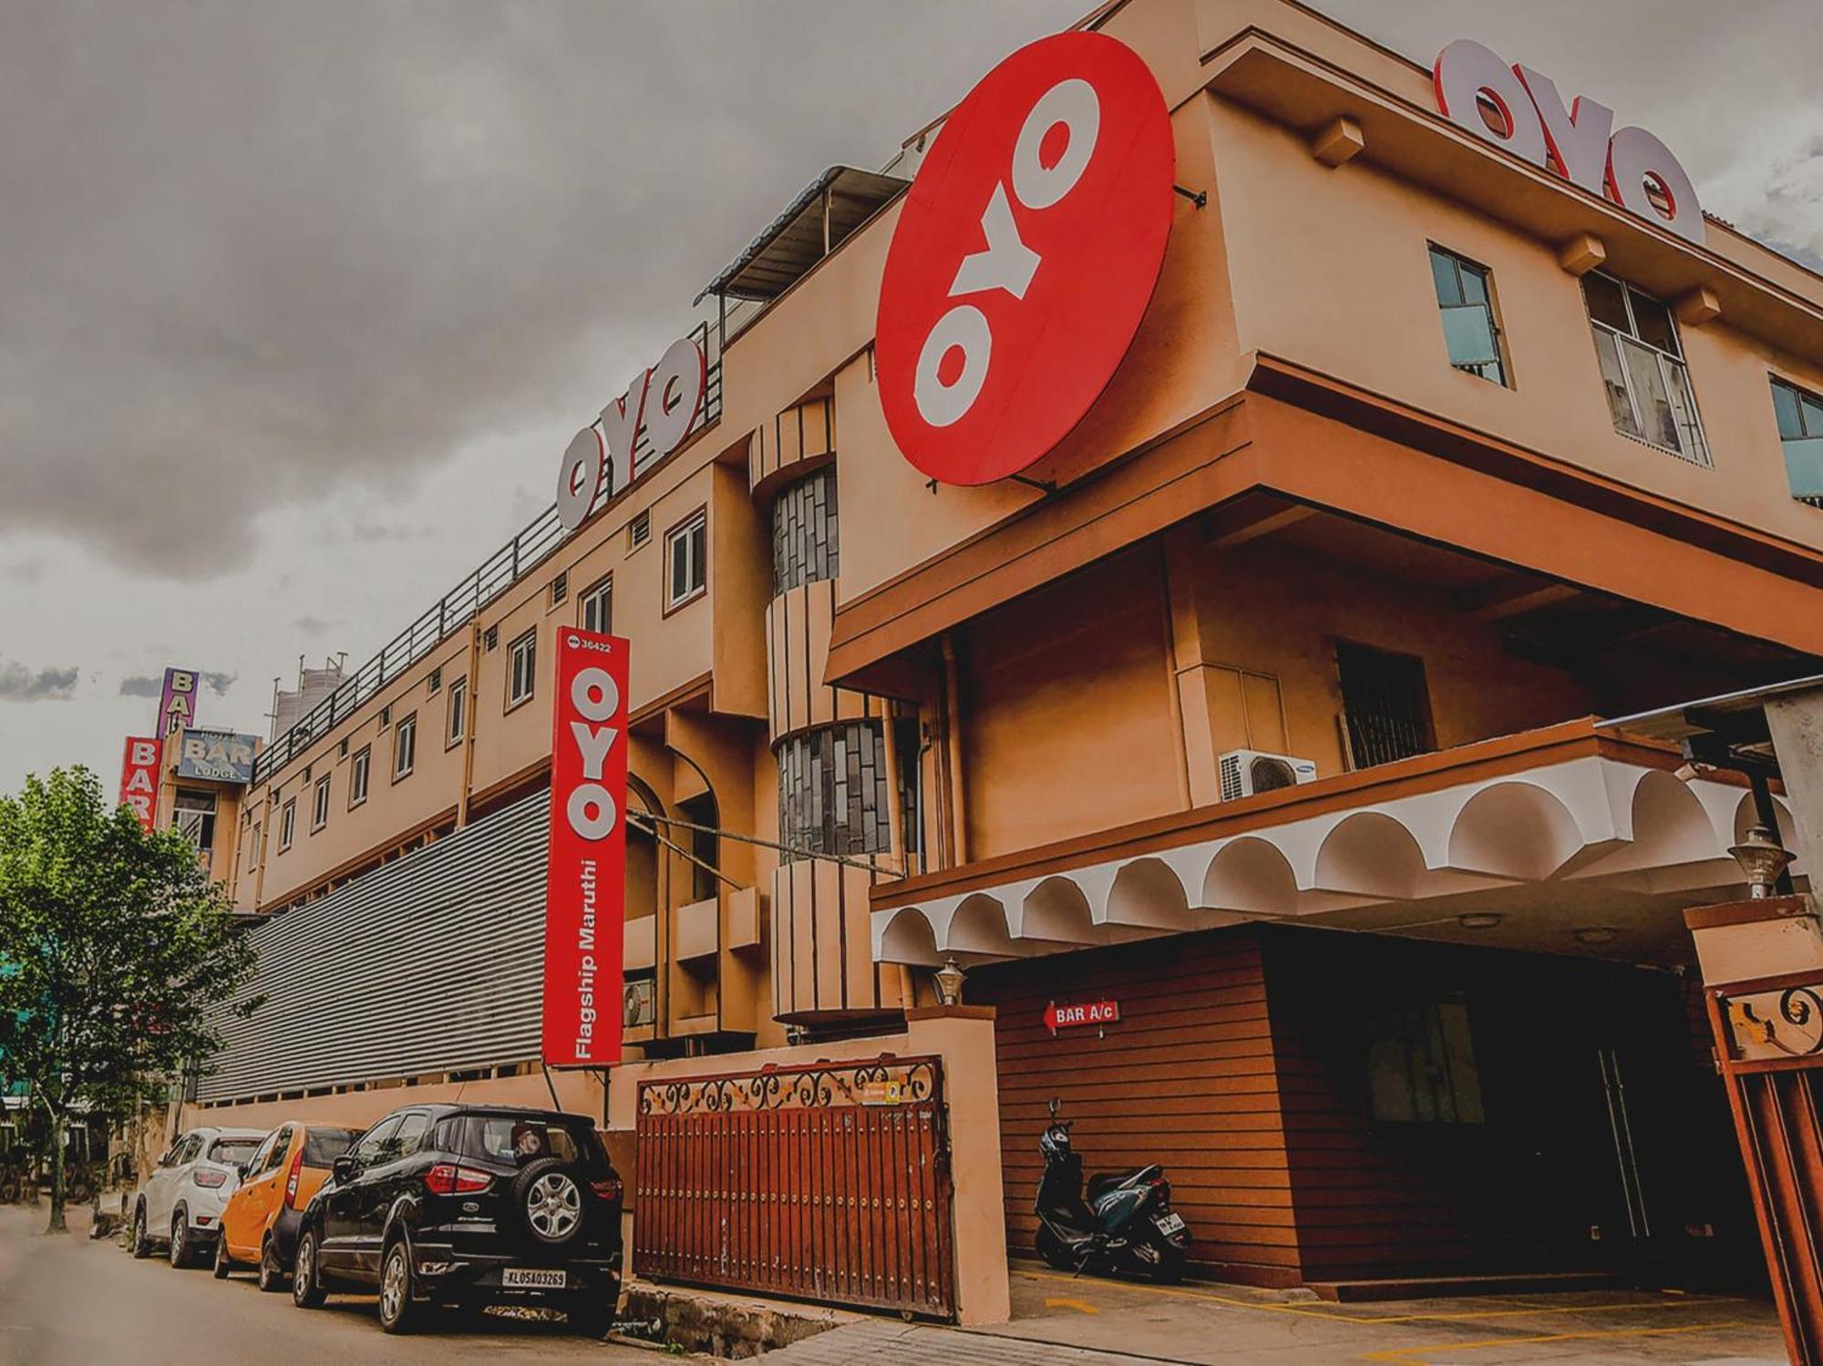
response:
<path id="1" fill-rule="evenodd" d="M 541 1304 L 602 1337 L 620 1302 L 620 1177 L 594 1120 L 516 1106 L 396 1109 L 304 1209 L 292 1299 L 379 1288 L 379 1324 Z"/>

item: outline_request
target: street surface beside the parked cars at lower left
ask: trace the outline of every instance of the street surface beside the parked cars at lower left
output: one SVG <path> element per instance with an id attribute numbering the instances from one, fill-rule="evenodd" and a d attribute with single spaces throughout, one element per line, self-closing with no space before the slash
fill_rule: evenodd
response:
<path id="1" fill-rule="evenodd" d="M 642 1362 L 640 1348 L 587 1342 L 563 1324 L 510 1322 L 419 1337 L 379 1331 L 374 1300 L 332 1295 L 323 1310 L 263 1295 L 250 1275 L 219 1282 L 206 1269 L 173 1271 L 162 1259 L 135 1262 L 113 1242 L 78 1231 L 44 1237 L 46 1211 L 0 1206 L 0 1366 L 447 1366 L 463 1361 Z"/>

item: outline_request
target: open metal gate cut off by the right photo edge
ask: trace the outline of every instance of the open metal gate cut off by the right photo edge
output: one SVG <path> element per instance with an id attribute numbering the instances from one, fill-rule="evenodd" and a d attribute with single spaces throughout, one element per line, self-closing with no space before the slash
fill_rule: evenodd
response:
<path id="1" fill-rule="evenodd" d="M 1728 1080 L 1772 1295 L 1796 1366 L 1823 1362 L 1823 982 L 1816 973 L 1714 989 L 1710 1025 Z"/>

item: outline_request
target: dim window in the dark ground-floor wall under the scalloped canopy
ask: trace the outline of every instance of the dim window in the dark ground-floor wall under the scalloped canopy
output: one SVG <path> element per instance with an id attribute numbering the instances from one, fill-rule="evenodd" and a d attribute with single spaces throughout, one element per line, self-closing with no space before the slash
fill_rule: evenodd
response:
<path id="1" fill-rule="evenodd" d="M 1384 1124 L 1480 1124 L 1480 1075 L 1460 996 L 1400 1005 L 1367 1042 L 1367 1096 Z"/>

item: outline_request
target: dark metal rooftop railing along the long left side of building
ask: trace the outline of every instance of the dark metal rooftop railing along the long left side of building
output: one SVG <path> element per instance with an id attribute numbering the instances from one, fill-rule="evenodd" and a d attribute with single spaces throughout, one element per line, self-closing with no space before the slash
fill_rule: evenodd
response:
<path id="1" fill-rule="evenodd" d="M 722 348 L 718 330 L 707 322 L 698 322 L 689 335 L 704 348 L 704 357 L 709 362 L 702 417 L 691 428 L 695 433 L 722 417 Z M 633 443 L 634 470 L 638 472 L 649 457 L 651 443 L 642 423 Z M 540 512 L 523 532 L 483 559 L 479 568 L 439 597 L 417 621 L 394 636 L 381 647 L 379 654 L 345 678 L 328 698 L 297 718 L 284 734 L 275 736 L 253 761 L 253 785 L 268 781 L 310 745 L 348 719 L 386 683 L 430 654 L 452 630 L 467 627 L 483 607 L 543 563 L 563 543 L 563 535 L 556 505 Z"/>

